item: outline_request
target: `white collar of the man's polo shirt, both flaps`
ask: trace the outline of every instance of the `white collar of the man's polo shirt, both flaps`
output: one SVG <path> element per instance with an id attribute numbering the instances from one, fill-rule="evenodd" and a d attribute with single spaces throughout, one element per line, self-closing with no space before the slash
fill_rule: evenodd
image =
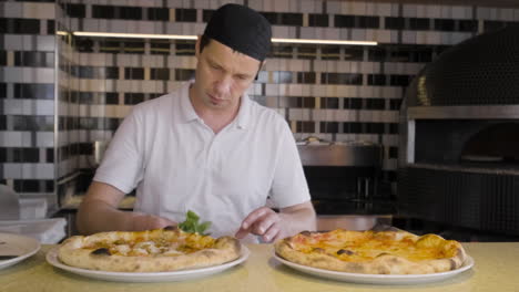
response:
<path id="1" fill-rule="evenodd" d="M 186 82 L 182 88 L 180 94 L 180 119 L 183 123 L 189 123 L 192 121 L 202 121 L 200 116 L 196 114 L 193 104 L 190 100 L 190 87 L 193 84 L 193 81 Z M 236 117 L 232 123 L 234 123 L 240 128 L 246 128 L 250 121 L 251 115 L 251 100 L 248 94 L 244 93 L 242 96 L 242 101 L 240 103 L 240 108 Z"/>

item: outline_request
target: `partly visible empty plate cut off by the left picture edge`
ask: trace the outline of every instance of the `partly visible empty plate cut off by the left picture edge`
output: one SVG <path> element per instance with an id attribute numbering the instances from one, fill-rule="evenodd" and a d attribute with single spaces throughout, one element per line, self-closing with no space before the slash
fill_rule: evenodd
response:
<path id="1" fill-rule="evenodd" d="M 0 269 L 11 267 L 31 257 L 40 250 L 40 242 L 33 238 L 0 232 L 0 255 L 18 255 L 0 260 Z"/>

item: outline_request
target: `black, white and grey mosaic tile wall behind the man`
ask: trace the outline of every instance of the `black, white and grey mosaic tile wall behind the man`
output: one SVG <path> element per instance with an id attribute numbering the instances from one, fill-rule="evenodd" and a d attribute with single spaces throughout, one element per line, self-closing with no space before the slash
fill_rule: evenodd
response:
<path id="1" fill-rule="evenodd" d="M 200 34 L 225 2 L 232 1 L 0 2 L 0 181 L 28 195 L 53 192 L 54 178 L 60 186 L 74 181 L 73 191 L 84 190 L 95 167 L 93 143 L 110 139 L 134 104 L 174 90 L 193 74 L 194 42 L 60 36 L 55 85 L 54 18 L 60 30 Z M 264 13 L 275 38 L 379 42 L 275 45 L 250 94 L 283 114 L 297 139 L 383 144 L 387 181 L 395 181 L 398 109 L 410 79 L 450 45 L 519 22 L 519 9 L 507 8 L 234 2 Z"/>

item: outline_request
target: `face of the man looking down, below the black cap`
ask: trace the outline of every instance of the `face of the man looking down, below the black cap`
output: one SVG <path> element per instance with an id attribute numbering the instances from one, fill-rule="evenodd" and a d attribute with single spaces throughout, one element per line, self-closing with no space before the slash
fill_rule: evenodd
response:
<path id="1" fill-rule="evenodd" d="M 196 42 L 195 103 L 208 109 L 234 109 L 260 70 L 261 62 L 211 40 L 200 53 Z"/>

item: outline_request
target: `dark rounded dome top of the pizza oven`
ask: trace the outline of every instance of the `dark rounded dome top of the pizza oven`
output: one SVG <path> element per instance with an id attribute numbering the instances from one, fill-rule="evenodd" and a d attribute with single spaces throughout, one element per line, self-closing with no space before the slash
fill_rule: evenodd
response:
<path id="1" fill-rule="evenodd" d="M 519 104 L 519 25 L 466 40 L 427 64 L 407 106 Z"/>

